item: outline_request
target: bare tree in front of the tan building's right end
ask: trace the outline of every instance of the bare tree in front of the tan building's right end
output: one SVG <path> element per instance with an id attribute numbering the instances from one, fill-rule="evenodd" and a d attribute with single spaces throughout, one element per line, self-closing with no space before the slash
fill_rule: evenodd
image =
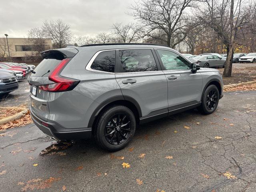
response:
<path id="1" fill-rule="evenodd" d="M 36 48 L 36 54 L 45 50 L 46 34 L 42 28 L 32 28 L 28 31 L 28 41 L 32 42 Z"/>

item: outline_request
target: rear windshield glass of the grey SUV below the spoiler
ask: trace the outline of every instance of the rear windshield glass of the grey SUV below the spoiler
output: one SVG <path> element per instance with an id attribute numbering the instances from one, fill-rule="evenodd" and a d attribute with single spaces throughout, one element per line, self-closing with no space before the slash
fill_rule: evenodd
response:
<path id="1" fill-rule="evenodd" d="M 34 69 L 34 72 L 36 73 L 32 73 L 31 76 L 48 77 L 60 62 L 61 60 L 57 59 L 44 59 Z"/>

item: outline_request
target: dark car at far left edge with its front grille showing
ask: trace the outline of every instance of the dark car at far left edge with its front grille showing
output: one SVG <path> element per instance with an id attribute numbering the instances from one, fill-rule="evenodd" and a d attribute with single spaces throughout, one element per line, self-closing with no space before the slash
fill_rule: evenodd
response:
<path id="1" fill-rule="evenodd" d="M 0 94 L 8 94 L 19 88 L 18 80 L 8 72 L 0 72 Z"/>

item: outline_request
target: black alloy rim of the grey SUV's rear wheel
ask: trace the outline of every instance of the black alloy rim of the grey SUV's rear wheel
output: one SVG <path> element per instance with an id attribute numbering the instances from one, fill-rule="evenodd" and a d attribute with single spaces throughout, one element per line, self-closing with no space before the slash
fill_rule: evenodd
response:
<path id="1" fill-rule="evenodd" d="M 130 118 L 123 114 L 115 114 L 106 123 L 105 138 L 112 145 L 119 145 L 125 142 L 131 132 Z"/>

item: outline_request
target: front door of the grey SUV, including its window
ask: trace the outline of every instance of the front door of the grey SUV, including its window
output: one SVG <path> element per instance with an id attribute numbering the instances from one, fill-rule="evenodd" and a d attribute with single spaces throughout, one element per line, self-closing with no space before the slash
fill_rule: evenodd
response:
<path id="1" fill-rule="evenodd" d="M 191 63 L 171 50 L 156 49 L 168 82 L 169 111 L 193 106 L 200 102 L 202 76 L 191 72 Z"/>

